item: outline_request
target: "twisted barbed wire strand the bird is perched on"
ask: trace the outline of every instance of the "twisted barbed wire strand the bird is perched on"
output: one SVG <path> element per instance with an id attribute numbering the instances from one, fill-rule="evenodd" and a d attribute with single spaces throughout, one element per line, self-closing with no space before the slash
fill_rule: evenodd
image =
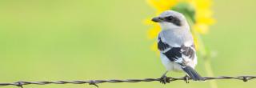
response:
<path id="1" fill-rule="evenodd" d="M 251 79 L 256 78 L 256 76 L 238 76 L 238 77 L 230 77 L 230 76 L 220 76 L 220 77 L 204 77 L 204 80 L 214 80 L 214 79 L 236 79 L 242 80 L 243 82 L 247 82 Z M 118 82 L 162 82 L 164 79 L 162 78 L 143 78 L 143 79 L 111 79 L 111 80 L 89 80 L 89 81 L 56 81 L 56 82 L 12 82 L 12 83 L 0 83 L 0 86 L 19 86 L 22 87 L 24 85 L 47 85 L 47 84 L 90 84 L 97 86 L 99 83 L 111 82 L 111 83 L 118 83 Z M 183 77 L 183 78 L 171 78 L 167 77 L 167 82 L 174 82 L 178 80 L 184 80 L 188 83 L 191 80 L 190 77 Z"/>

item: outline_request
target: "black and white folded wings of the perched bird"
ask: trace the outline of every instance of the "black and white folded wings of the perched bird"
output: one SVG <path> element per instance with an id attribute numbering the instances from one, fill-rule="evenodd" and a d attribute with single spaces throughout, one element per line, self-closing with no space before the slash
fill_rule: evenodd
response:
<path id="1" fill-rule="evenodd" d="M 170 62 L 186 65 L 187 62 L 193 61 L 195 55 L 194 45 L 173 47 L 163 40 L 161 37 L 158 37 L 158 50 L 166 55 Z"/>

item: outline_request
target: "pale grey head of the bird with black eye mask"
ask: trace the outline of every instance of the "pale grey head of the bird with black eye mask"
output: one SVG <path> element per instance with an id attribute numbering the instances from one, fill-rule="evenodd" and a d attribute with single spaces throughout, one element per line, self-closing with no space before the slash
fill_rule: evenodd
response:
<path id="1" fill-rule="evenodd" d="M 158 17 L 152 18 L 153 22 L 158 22 L 162 30 L 189 28 L 186 18 L 183 14 L 174 10 L 166 10 Z"/>

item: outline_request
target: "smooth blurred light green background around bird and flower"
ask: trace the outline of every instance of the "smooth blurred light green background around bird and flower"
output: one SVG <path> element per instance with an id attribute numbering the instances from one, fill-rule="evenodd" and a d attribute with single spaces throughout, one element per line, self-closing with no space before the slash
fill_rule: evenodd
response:
<path id="1" fill-rule="evenodd" d="M 256 74 L 254 0 L 214 0 L 214 18 L 204 41 L 217 56 L 215 76 Z M 158 78 L 165 71 L 142 22 L 154 17 L 144 0 L 1 0 L 0 82 Z M 202 58 L 197 70 L 206 76 Z M 181 73 L 168 76 L 182 77 Z M 218 80 L 220 88 L 256 82 Z M 102 88 L 210 87 L 183 81 L 103 83 Z M 1 86 L 13 88 L 15 86 Z M 25 88 L 94 88 L 88 84 L 29 85 Z"/>

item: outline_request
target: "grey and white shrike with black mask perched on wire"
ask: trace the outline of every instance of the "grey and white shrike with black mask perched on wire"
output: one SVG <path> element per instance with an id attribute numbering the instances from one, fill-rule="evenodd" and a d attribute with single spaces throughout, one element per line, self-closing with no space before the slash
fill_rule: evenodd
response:
<path id="1" fill-rule="evenodd" d="M 204 80 L 194 70 L 197 56 L 190 26 L 186 22 L 185 16 L 174 10 L 166 10 L 152 21 L 158 22 L 162 29 L 158 34 L 158 50 L 160 50 L 162 64 L 166 67 L 166 73 L 168 71 L 183 71 L 194 81 Z M 166 83 L 166 73 L 162 75 L 164 84 Z"/>

